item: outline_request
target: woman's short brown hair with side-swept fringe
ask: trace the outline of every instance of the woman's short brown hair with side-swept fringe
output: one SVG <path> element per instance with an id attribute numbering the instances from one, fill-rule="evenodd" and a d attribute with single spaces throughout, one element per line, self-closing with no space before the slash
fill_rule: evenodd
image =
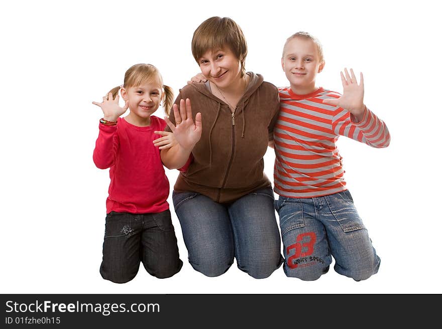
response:
<path id="1" fill-rule="evenodd" d="M 241 77 L 246 74 L 247 43 L 243 31 L 229 17 L 211 17 L 202 22 L 193 33 L 192 55 L 196 63 L 211 49 L 228 46 L 241 63 Z"/>

